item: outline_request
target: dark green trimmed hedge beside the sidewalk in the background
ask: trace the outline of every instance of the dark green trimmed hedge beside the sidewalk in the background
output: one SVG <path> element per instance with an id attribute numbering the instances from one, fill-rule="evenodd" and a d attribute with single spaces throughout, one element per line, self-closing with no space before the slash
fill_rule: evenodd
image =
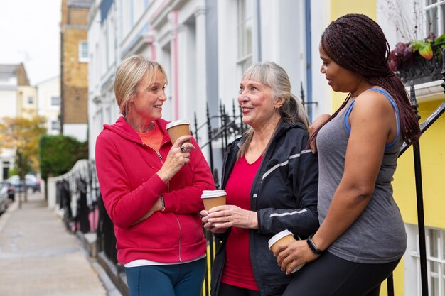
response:
<path id="1" fill-rule="evenodd" d="M 65 174 L 77 160 L 88 158 L 88 142 L 82 143 L 69 136 L 42 136 L 39 148 L 41 175 L 45 181 L 48 177 Z"/>

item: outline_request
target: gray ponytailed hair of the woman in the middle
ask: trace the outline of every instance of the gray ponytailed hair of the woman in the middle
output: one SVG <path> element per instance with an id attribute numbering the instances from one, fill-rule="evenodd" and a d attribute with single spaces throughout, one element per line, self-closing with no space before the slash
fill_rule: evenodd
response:
<path id="1" fill-rule="evenodd" d="M 280 122 L 295 124 L 300 122 L 306 128 L 309 127 L 309 118 L 303 104 L 291 93 L 291 82 L 286 71 L 274 62 L 257 62 L 247 68 L 242 75 L 243 79 L 254 80 L 267 85 L 272 89 L 273 99 L 284 99 L 284 104 L 279 108 Z M 244 134 L 237 158 L 242 158 L 250 146 L 253 137 L 253 128 L 247 129 Z M 269 146 L 269 145 L 268 145 Z"/>

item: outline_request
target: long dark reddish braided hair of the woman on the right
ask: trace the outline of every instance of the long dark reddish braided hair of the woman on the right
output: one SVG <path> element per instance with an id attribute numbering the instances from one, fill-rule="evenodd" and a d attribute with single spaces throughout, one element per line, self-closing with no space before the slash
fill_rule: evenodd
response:
<path id="1" fill-rule="evenodd" d="M 409 97 L 402 82 L 390 70 L 388 64 L 390 45 L 382 28 L 375 21 L 363 14 L 341 16 L 333 21 L 321 35 L 321 47 L 326 55 L 340 67 L 363 75 L 370 84 L 385 89 L 395 100 L 399 109 L 404 141 L 409 144 L 419 140 L 419 122 L 409 104 Z M 348 94 L 343 104 L 328 121 L 331 121 L 343 109 L 350 97 L 351 94 Z M 316 139 L 320 128 L 313 133 L 310 141 Z"/>

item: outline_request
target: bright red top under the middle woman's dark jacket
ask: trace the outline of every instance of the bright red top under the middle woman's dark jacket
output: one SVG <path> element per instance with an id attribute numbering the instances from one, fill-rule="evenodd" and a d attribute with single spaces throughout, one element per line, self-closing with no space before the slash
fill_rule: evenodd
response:
<path id="1" fill-rule="evenodd" d="M 250 190 L 261 160 L 262 156 L 254 163 L 249 164 L 242 157 L 235 163 L 225 186 L 227 204 L 234 204 L 241 209 L 251 209 Z M 227 285 L 258 291 L 250 260 L 249 229 L 232 227 L 227 239 L 226 259 L 221 281 Z"/>

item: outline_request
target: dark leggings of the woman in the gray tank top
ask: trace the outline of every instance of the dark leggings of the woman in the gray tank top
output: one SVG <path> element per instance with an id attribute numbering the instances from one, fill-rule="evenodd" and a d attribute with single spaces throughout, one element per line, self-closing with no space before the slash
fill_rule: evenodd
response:
<path id="1" fill-rule="evenodd" d="M 378 296 L 399 261 L 354 263 L 326 252 L 294 275 L 283 296 Z"/>

